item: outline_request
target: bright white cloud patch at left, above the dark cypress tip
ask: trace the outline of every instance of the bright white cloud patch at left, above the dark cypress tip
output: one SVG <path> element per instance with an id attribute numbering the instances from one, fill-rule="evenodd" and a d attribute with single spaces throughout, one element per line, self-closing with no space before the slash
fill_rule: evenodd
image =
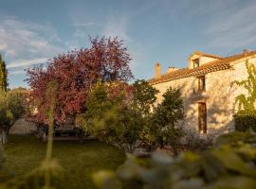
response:
<path id="1" fill-rule="evenodd" d="M 15 17 L 0 19 L 0 39 L 0 51 L 7 60 L 50 58 L 63 51 L 52 26 L 22 22 Z"/>

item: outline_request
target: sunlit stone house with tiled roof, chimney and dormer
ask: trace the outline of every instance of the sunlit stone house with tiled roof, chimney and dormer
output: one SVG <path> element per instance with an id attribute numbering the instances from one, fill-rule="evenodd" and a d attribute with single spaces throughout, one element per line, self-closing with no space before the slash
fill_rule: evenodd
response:
<path id="1" fill-rule="evenodd" d="M 160 91 L 157 103 L 169 87 L 180 89 L 184 103 L 186 129 L 219 135 L 234 129 L 234 98 L 247 94 L 242 87 L 232 85 L 234 80 L 247 78 L 246 60 L 256 64 L 256 51 L 244 50 L 242 54 L 222 58 L 203 52 L 189 57 L 189 67 L 169 67 L 161 74 L 161 66 L 155 63 L 155 77 L 148 82 Z"/>

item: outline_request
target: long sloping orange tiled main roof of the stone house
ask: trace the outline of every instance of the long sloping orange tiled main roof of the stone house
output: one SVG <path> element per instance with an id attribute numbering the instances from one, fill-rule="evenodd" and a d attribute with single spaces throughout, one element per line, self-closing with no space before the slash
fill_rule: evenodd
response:
<path id="1" fill-rule="evenodd" d="M 157 84 L 178 78 L 203 76 L 210 72 L 229 69 L 231 67 L 231 61 L 243 59 L 252 55 L 256 55 L 256 51 L 248 51 L 242 54 L 237 54 L 226 58 L 219 58 L 219 60 L 213 60 L 192 69 L 182 68 L 171 73 L 162 75 L 161 77 L 149 79 L 148 82 L 150 84 Z"/>

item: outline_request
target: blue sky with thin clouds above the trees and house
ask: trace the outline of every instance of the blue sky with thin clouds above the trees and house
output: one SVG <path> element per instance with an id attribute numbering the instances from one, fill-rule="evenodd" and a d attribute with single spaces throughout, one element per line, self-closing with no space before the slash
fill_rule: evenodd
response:
<path id="1" fill-rule="evenodd" d="M 159 61 L 188 66 L 193 51 L 219 56 L 256 49 L 255 0 L 0 0 L 0 53 L 9 88 L 27 87 L 25 69 L 90 47 L 88 35 L 118 36 L 135 78 Z"/>

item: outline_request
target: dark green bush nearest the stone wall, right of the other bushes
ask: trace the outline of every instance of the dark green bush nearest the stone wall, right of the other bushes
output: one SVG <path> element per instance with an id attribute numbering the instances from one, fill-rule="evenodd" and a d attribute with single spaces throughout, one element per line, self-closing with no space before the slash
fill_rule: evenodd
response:
<path id="1" fill-rule="evenodd" d="M 175 124 L 183 118 L 183 104 L 179 90 L 168 89 L 163 101 L 155 107 L 147 128 L 146 141 L 152 146 L 176 146 L 182 130 Z"/>

